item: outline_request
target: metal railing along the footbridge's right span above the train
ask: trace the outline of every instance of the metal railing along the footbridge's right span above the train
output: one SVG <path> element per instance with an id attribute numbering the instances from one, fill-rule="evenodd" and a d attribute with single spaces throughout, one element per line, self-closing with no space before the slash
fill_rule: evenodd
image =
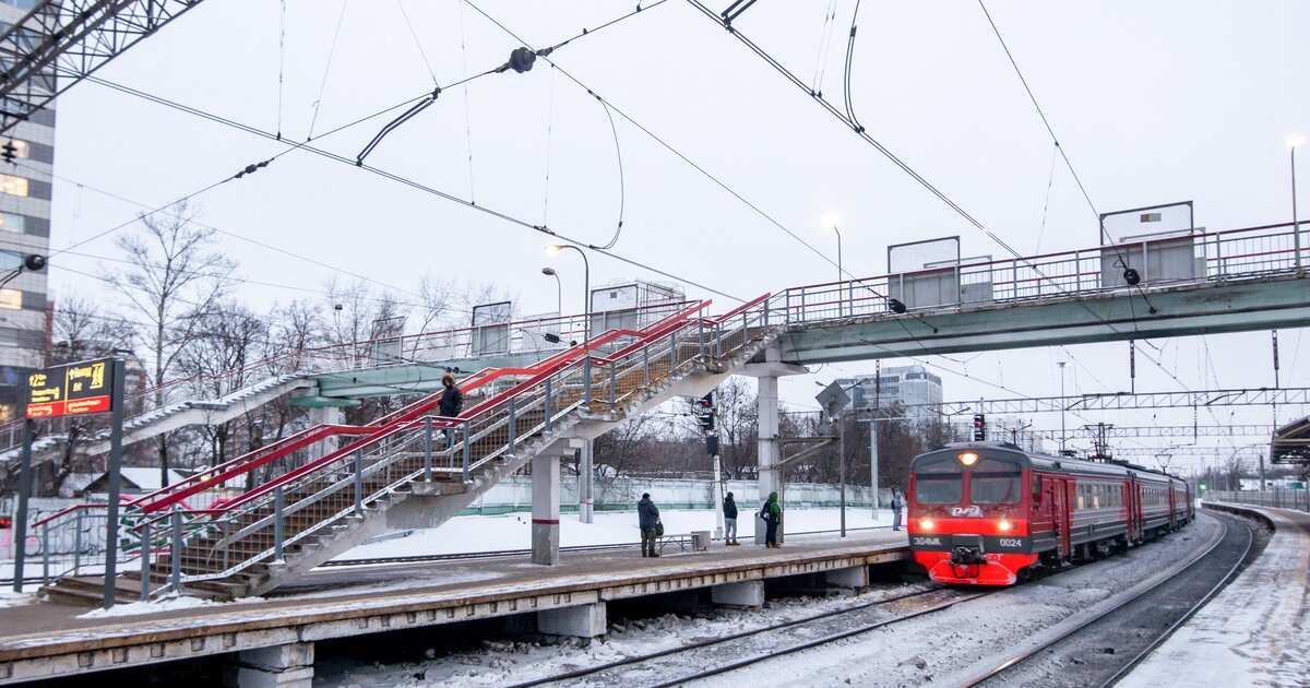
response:
<path id="1" fill-rule="evenodd" d="M 1298 237 L 1300 235 L 1300 237 Z M 1298 241 L 1300 239 L 1300 241 Z M 1125 270 L 1138 282 L 1129 284 Z M 895 316 L 1294 273 L 1310 267 L 1310 231 L 1292 223 L 1145 237 L 1117 245 L 791 287 L 770 301 L 786 322 Z"/>

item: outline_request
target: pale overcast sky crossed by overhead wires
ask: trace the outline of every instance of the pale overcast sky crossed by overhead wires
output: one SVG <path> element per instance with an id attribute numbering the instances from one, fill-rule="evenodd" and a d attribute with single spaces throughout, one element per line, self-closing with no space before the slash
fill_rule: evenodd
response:
<path id="1" fill-rule="evenodd" d="M 434 80 L 448 85 L 498 66 L 517 46 L 457 0 L 284 5 L 283 21 L 279 3 L 211 0 L 100 76 L 303 142 L 428 93 Z M 478 5 L 538 47 L 633 9 L 631 0 Z M 828 1 L 764 0 L 738 26 L 841 107 L 853 8 L 834 3 L 825 29 Z M 1290 220 L 1285 142 L 1310 134 L 1310 4 L 994 0 L 988 9 L 1098 211 L 1195 201 L 1196 224 L 1212 231 Z M 872 136 L 1023 254 L 1099 244 L 1095 215 L 1069 170 L 1061 164 L 1052 174 L 1051 138 L 976 1 L 866 1 L 858 26 L 853 97 Z M 888 244 L 941 236 L 959 236 L 964 256 L 1006 256 L 684 0 L 579 38 L 552 59 L 829 258 L 836 240 L 820 219 L 836 214 L 854 274 L 886 273 Z M 64 181 L 55 185 L 55 250 L 141 210 L 93 189 L 156 206 L 287 148 L 92 83 L 64 94 L 58 111 L 56 174 Z M 385 122 L 316 144 L 354 157 Z M 829 262 L 630 122 L 616 115 L 616 124 L 624 162 L 617 254 L 741 299 L 836 278 Z M 586 242 L 608 241 L 618 218 L 605 111 L 542 60 L 528 73 L 443 90 L 368 162 Z M 1307 178 L 1310 169 L 1301 176 L 1302 215 Z M 571 253 L 546 258 L 541 233 L 305 152 L 196 201 L 202 220 L 228 232 L 221 248 L 252 280 L 321 290 L 334 270 L 233 235 L 367 274 L 406 296 L 424 273 L 494 280 L 520 313 L 554 311 L 554 283 L 540 274 L 553 265 L 565 309 L 582 307 L 580 261 Z M 55 296 L 100 291 L 79 273 L 97 273 L 97 256 L 106 254 L 109 236 L 59 256 Z M 668 279 L 596 253 L 591 269 L 592 284 Z M 254 284 L 241 295 L 261 305 L 313 296 Z M 736 305 L 713 297 L 715 309 Z M 1286 387 L 1310 383 L 1303 334 L 1280 333 Z M 1138 356 L 1140 391 L 1273 384 L 1268 333 L 1161 339 L 1138 351 L 1161 360 Z M 1124 342 L 925 359 L 942 375 L 947 400 L 1058 393 L 1057 360 L 1072 363 L 1069 392 L 1128 388 Z M 872 367 L 825 366 L 786 380 L 783 396 L 814 408 L 815 380 Z M 1305 410 L 1277 413 L 1285 422 Z M 1034 421 L 1060 426 L 1055 414 Z M 1191 425 L 1192 413 L 1068 418 L 1070 427 L 1095 421 Z M 1272 425 L 1273 415 L 1268 408 L 1220 409 L 1199 422 Z M 1231 448 L 1267 438 L 1201 443 Z M 1191 465 L 1186 452 L 1175 452 L 1175 467 Z"/>

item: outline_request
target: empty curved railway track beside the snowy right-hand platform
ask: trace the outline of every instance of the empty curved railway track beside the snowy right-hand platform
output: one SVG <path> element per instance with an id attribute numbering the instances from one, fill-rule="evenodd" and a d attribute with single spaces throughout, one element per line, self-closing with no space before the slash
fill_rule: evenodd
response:
<path id="1" fill-rule="evenodd" d="M 1117 600 L 1036 647 L 1026 649 L 965 685 L 1096 685 L 1127 676 L 1174 630 L 1187 622 L 1250 561 L 1255 533 L 1235 518 L 1222 518 L 1224 535 L 1174 574 Z M 1213 565 L 1216 557 L 1221 566 Z M 1195 600 L 1188 604 L 1189 600 Z M 1127 647 L 1125 653 L 1119 647 Z M 1089 651 L 1091 647 L 1114 653 Z M 1053 666 L 1044 671 L 1043 663 Z"/>

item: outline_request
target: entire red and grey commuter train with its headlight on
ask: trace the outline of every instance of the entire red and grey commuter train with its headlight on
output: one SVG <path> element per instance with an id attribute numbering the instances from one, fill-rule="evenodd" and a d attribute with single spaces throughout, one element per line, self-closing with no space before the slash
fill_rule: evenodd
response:
<path id="1" fill-rule="evenodd" d="M 1144 467 L 948 444 L 910 463 L 909 544 L 942 583 L 1009 586 L 1182 528 L 1187 482 Z"/>

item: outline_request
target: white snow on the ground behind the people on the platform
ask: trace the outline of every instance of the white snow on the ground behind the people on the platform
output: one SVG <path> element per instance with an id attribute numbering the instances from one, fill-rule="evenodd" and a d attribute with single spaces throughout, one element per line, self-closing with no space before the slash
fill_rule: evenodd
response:
<path id="1" fill-rule="evenodd" d="M 891 510 L 878 512 L 875 522 L 869 508 L 848 508 L 846 528 L 891 526 Z M 791 508 L 783 516 L 786 532 L 834 531 L 841 518 L 840 508 Z M 665 535 L 685 535 L 692 531 L 714 532 L 715 512 L 709 510 L 662 511 Z M 738 539 L 755 537 L 755 518 L 743 511 L 738 518 Z M 635 511 L 605 511 L 595 515 L 595 523 L 578 520 L 576 514 L 559 519 L 559 545 L 617 545 L 639 543 Z M 499 516 L 456 516 L 438 528 L 413 531 L 406 537 L 376 541 L 356 546 L 338 560 L 402 557 L 415 554 L 457 554 L 464 552 L 499 552 L 529 549 L 532 546 L 532 514 L 504 514 Z"/>

